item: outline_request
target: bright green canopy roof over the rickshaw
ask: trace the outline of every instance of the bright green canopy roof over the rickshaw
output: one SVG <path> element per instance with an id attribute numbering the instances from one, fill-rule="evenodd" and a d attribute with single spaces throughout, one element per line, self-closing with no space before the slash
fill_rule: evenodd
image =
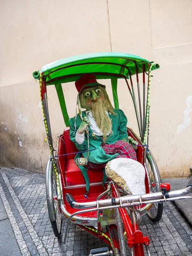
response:
<path id="1" fill-rule="evenodd" d="M 130 74 L 136 74 L 136 68 L 138 73 L 142 73 L 143 64 L 148 72 L 148 63 L 150 61 L 137 55 L 97 52 L 54 61 L 42 67 L 41 73 L 44 73 L 47 85 L 76 81 L 84 73 L 94 73 L 97 79 L 111 79 L 116 76 L 129 78 Z M 152 70 L 159 67 L 155 64 Z M 37 79 L 36 72 L 34 78 Z"/>

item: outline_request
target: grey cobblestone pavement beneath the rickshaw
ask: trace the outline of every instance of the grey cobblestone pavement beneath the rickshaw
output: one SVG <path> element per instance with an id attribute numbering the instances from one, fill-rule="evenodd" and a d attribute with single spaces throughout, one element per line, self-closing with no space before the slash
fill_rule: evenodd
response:
<path id="1" fill-rule="evenodd" d="M 62 236 L 55 238 L 47 212 L 45 175 L 1 168 L 0 196 L 23 256 L 86 256 L 91 249 L 106 246 L 74 224 L 70 225 L 64 245 L 64 217 Z M 144 216 L 140 229 L 150 238 L 151 256 L 192 256 L 192 228 L 171 202 L 164 204 L 163 218 L 158 224 Z M 1 251 L 0 255 L 3 256 Z"/>

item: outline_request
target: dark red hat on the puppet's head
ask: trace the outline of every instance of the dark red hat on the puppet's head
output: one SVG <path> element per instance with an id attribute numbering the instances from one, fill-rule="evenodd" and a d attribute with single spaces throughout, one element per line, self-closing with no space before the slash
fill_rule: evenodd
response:
<path id="1" fill-rule="evenodd" d="M 86 73 L 82 75 L 76 82 L 76 89 L 78 90 L 79 93 L 82 93 L 82 91 L 90 86 L 94 85 L 101 85 L 104 86 L 103 84 L 99 84 L 98 81 L 96 80 L 96 76 L 93 75 L 92 73 Z"/>

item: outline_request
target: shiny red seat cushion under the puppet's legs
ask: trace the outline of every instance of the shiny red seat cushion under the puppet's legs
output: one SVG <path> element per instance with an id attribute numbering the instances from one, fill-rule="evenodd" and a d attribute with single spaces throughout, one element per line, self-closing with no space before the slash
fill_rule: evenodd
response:
<path id="1" fill-rule="evenodd" d="M 102 182 L 103 179 L 103 171 L 102 169 L 99 170 L 87 170 L 90 183 L 93 182 Z M 70 185 L 79 185 L 85 184 L 85 180 L 83 174 L 78 166 L 76 166 L 74 159 L 70 159 L 67 161 L 65 177 L 67 186 Z"/>

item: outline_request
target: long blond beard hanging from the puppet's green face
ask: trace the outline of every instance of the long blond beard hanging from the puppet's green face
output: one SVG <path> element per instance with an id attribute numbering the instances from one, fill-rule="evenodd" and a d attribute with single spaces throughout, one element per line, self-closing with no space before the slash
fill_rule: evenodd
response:
<path id="1" fill-rule="evenodd" d="M 111 134 L 112 125 L 111 120 L 107 114 L 107 110 L 103 102 L 98 99 L 96 102 L 91 103 L 91 111 L 95 118 L 96 124 L 103 133 L 103 143 L 107 140 L 107 134 Z"/>

